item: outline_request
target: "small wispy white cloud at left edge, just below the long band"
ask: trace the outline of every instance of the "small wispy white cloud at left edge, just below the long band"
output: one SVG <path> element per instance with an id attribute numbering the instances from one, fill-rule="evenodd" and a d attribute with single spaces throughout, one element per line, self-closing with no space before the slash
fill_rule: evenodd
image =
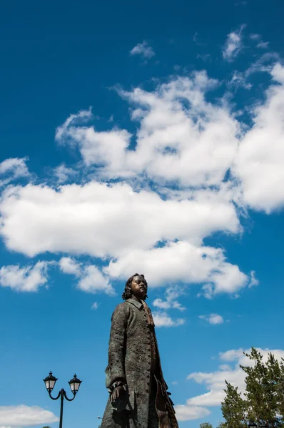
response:
<path id="1" fill-rule="evenodd" d="M 21 292 L 36 292 L 47 282 L 48 262 L 37 262 L 34 266 L 19 265 L 2 266 L 0 269 L 0 285 Z"/>

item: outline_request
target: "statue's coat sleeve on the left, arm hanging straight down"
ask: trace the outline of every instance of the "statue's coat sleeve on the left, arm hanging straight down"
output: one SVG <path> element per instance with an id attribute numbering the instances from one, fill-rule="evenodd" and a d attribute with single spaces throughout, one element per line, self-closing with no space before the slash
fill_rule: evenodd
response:
<path id="1" fill-rule="evenodd" d="M 111 336 L 108 344 L 108 379 L 106 387 L 109 388 L 117 380 L 126 383 L 124 370 L 126 328 L 128 321 L 128 307 L 118 305 L 111 317 Z"/>

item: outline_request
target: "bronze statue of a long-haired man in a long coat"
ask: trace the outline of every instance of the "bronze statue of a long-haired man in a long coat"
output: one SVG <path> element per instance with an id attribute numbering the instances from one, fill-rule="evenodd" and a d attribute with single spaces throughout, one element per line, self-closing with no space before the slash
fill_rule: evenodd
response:
<path id="1" fill-rule="evenodd" d="M 163 379 L 144 275 L 131 276 L 111 318 L 101 428 L 178 428 Z"/>

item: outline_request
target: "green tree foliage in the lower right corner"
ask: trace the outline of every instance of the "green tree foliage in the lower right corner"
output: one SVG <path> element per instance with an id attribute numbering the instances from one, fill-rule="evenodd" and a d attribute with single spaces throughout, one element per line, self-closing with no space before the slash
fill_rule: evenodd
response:
<path id="1" fill-rule="evenodd" d="M 245 354 L 252 364 L 240 365 L 245 372 L 245 392 L 241 397 L 237 387 L 226 382 L 225 399 L 221 405 L 225 422 L 220 428 L 243 428 L 248 422 L 284 428 L 284 360 L 263 355 L 252 348 Z"/>

